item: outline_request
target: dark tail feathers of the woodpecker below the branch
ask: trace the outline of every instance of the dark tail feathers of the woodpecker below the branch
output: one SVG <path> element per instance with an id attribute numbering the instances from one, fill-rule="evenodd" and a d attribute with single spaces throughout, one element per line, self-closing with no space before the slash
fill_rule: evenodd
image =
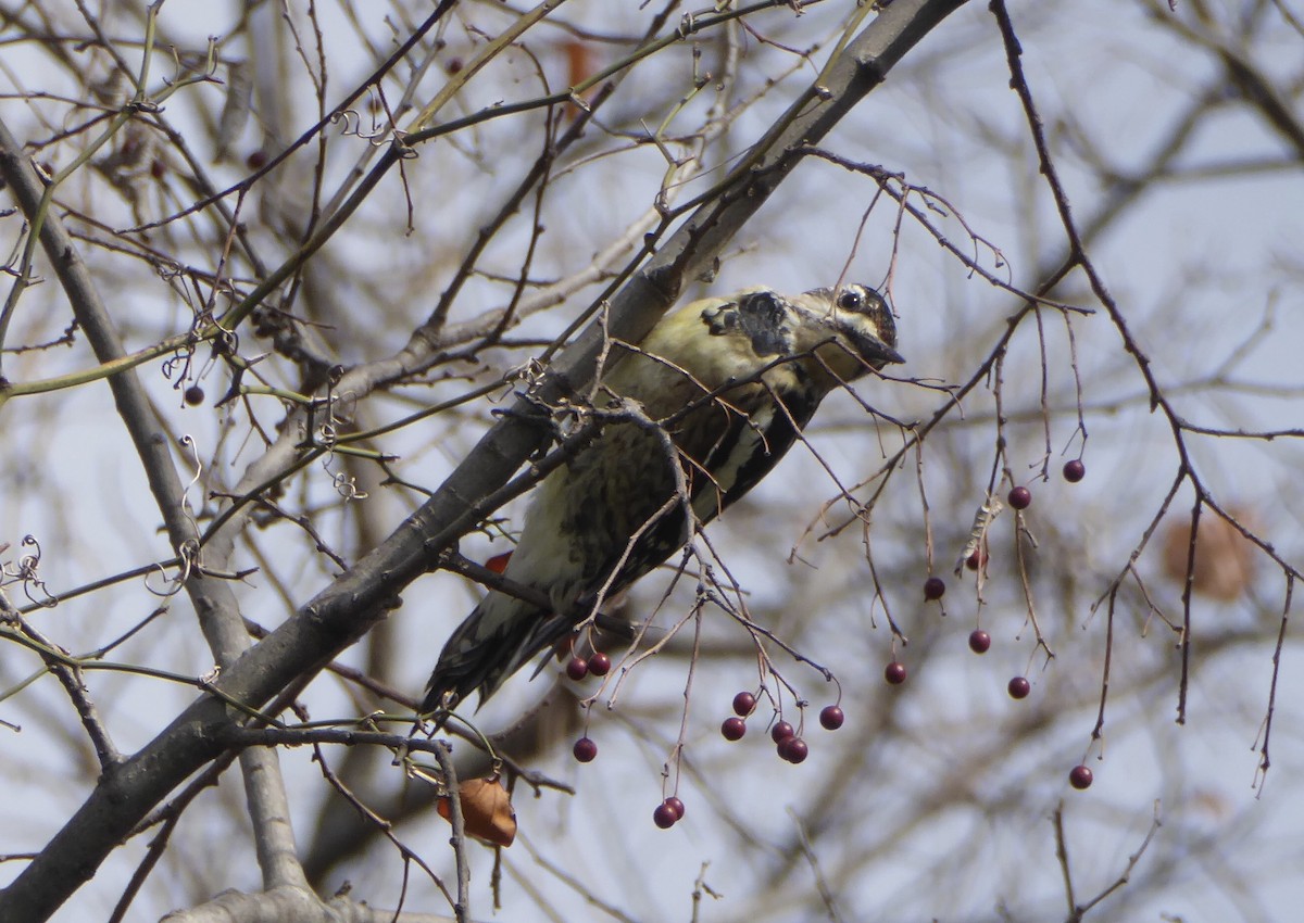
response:
<path id="1" fill-rule="evenodd" d="M 482 705 L 522 664 L 559 640 L 567 628 L 553 613 L 489 593 L 443 645 L 421 713 L 446 714 L 476 690 Z"/>

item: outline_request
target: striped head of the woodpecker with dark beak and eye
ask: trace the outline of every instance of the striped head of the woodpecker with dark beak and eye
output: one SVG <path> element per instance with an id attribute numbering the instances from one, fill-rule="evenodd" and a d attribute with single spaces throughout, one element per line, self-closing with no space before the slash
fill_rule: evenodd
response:
<path id="1" fill-rule="evenodd" d="M 815 351 L 841 381 L 853 381 L 871 368 L 904 362 L 897 352 L 896 321 L 887 300 L 870 286 L 815 288 L 792 296 L 794 352 Z"/>

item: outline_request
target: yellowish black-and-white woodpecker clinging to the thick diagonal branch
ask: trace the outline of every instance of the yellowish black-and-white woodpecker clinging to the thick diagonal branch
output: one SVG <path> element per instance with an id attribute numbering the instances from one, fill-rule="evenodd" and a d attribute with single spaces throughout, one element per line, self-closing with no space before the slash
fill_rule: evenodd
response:
<path id="1" fill-rule="evenodd" d="M 421 714 L 446 720 L 475 691 L 482 705 L 751 490 L 829 392 L 904 362 L 896 347 L 892 309 L 865 284 L 755 286 L 672 309 L 638 347 L 613 343 L 601 429 L 535 488 L 502 574 L 533 598 L 484 597 L 443 645 Z"/>

